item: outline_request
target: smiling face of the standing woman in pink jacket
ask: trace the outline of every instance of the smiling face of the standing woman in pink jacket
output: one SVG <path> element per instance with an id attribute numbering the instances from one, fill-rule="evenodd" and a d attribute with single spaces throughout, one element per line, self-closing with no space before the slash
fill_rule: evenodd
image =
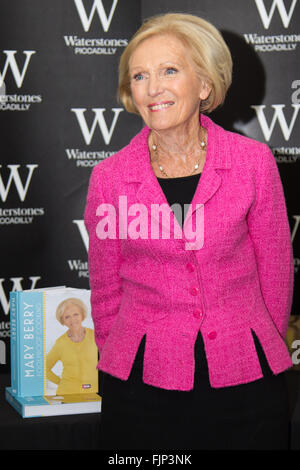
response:
<path id="1" fill-rule="evenodd" d="M 199 105 L 210 88 L 177 37 L 145 39 L 130 58 L 129 73 L 133 101 L 148 127 L 179 130 L 192 120 L 199 123 Z"/>

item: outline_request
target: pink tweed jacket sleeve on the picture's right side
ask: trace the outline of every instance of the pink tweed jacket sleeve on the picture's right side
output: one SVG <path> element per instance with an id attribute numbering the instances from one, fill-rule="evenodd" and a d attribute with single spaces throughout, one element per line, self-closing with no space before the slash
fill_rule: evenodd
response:
<path id="1" fill-rule="evenodd" d="M 260 286 L 266 307 L 285 338 L 293 295 L 293 252 L 284 191 L 275 158 L 264 145 L 256 198 L 248 213 Z"/>

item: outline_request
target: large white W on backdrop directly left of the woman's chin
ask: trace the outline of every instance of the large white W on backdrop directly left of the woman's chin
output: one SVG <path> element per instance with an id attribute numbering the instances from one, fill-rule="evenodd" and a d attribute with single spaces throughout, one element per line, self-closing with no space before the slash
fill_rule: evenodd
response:
<path id="1" fill-rule="evenodd" d="M 119 114 L 122 111 L 124 111 L 124 109 L 112 108 L 112 111 L 114 112 L 114 118 L 110 126 L 110 129 L 108 129 L 104 116 L 103 116 L 103 112 L 105 111 L 105 108 L 93 108 L 92 109 L 92 111 L 94 111 L 95 113 L 95 117 L 94 117 L 94 122 L 91 126 L 91 129 L 88 128 L 85 117 L 84 117 L 86 108 L 72 108 L 71 111 L 73 111 L 76 114 L 76 117 L 80 125 L 80 129 L 83 134 L 86 145 L 89 145 L 91 143 L 97 124 L 100 127 L 104 142 L 106 143 L 106 145 L 109 145 L 117 120 L 118 120 L 118 117 L 119 117 Z"/>

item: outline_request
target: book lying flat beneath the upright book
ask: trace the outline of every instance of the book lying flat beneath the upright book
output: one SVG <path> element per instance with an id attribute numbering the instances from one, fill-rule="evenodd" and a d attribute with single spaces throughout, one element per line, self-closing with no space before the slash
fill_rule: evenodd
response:
<path id="1" fill-rule="evenodd" d="M 96 393 L 86 395 L 18 397 L 11 387 L 6 387 L 5 398 L 22 418 L 99 413 L 101 397 Z"/>

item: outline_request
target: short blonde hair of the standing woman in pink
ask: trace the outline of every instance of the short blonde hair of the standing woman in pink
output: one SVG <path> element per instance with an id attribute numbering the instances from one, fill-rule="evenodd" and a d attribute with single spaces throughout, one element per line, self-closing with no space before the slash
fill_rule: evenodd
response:
<path id="1" fill-rule="evenodd" d="M 232 80 L 232 58 L 221 33 L 208 21 L 186 13 L 167 13 L 146 20 L 130 40 L 119 63 L 118 99 L 125 109 L 138 113 L 130 88 L 129 62 L 142 41 L 152 36 L 172 34 L 190 52 L 199 79 L 211 93 L 201 102 L 200 112 L 211 112 L 225 100 Z"/>

